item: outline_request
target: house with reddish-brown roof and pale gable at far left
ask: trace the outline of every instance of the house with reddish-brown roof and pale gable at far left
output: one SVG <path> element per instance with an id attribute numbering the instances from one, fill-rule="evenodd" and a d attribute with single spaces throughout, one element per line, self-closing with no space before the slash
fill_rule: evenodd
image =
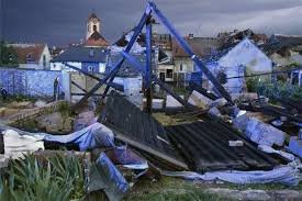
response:
<path id="1" fill-rule="evenodd" d="M 47 44 L 8 44 L 18 55 L 20 68 L 49 69 L 52 59 Z"/>

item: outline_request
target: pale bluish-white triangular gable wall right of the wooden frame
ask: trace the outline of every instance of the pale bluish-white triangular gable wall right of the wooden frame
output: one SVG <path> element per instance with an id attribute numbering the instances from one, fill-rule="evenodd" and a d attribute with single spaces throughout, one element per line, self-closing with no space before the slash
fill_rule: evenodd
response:
<path id="1" fill-rule="evenodd" d="M 222 67 L 245 66 L 250 72 L 271 71 L 271 60 L 248 38 L 243 40 L 225 56 L 220 58 Z"/>

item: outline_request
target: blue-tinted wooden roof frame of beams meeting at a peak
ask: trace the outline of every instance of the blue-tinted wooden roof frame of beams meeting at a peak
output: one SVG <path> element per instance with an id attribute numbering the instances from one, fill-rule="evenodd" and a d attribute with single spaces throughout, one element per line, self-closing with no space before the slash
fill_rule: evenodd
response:
<path id="1" fill-rule="evenodd" d="M 176 94 L 165 82 L 163 82 L 160 79 L 158 79 L 156 75 L 153 74 L 152 59 L 150 59 L 152 58 L 152 22 L 150 22 L 152 12 L 155 13 L 157 19 L 166 26 L 166 29 L 176 38 L 176 41 L 179 43 L 179 45 L 191 57 L 192 62 L 200 68 L 200 70 L 213 83 L 213 86 L 216 88 L 216 90 L 221 94 L 221 97 L 225 98 L 231 105 L 234 105 L 228 92 L 216 80 L 216 78 L 208 69 L 208 67 L 203 64 L 203 62 L 193 53 L 192 48 L 180 36 L 180 34 L 171 25 L 171 23 L 168 21 L 168 19 L 161 13 L 160 10 L 157 9 L 157 7 L 154 2 L 148 2 L 138 25 L 135 27 L 133 36 L 131 37 L 126 48 L 122 52 L 123 57 L 114 65 L 113 69 L 103 79 L 99 80 L 99 83 L 97 83 L 90 91 L 88 91 L 83 96 L 83 98 L 75 105 L 75 108 L 81 107 L 88 100 L 88 98 L 91 97 L 96 91 L 98 91 L 99 88 L 101 88 L 103 85 L 107 85 L 105 91 L 103 93 L 103 97 L 105 97 L 114 78 L 118 75 L 118 71 L 120 70 L 120 68 L 125 59 L 127 59 L 131 64 L 133 64 L 133 66 L 136 68 L 136 70 L 143 72 L 143 75 L 145 77 L 145 81 L 146 81 L 146 87 L 145 87 L 146 91 L 145 92 L 147 94 L 147 111 L 148 112 L 150 112 L 150 110 L 152 110 L 150 87 L 152 87 L 153 81 L 155 83 L 157 83 L 159 87 L 161 87 L 169 94 L 171 94 L 176 100 L 178 100 L 186 108 L 189 108 L 189 109 L 193 108 L 186 100 L 183 100 L 178 94 Z M 137 36 L 141 34 L 141 32 L 145 25 L 146 25 L 146 66 L 142 67 L 141 64 L 133 56 L 130 55 L 130 51 L 131 51 L 132 46 L 134 45 L 134 43 L 136 42 Z M 70 67 L 70 65 L 68 65 L 68 66 Z"/>

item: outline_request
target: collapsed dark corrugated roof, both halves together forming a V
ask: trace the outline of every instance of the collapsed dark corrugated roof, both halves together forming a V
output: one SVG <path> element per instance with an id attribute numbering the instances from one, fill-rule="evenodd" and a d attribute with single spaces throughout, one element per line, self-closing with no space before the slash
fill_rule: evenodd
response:
<path id="1" fill-rule="evenodd" d="M 115 132 L 115 138 L 163 169 L 256 170 L 272 169 L 278 164 L 222 121 L 164 127 L 114 91 L 107 102 L 104 124 Z M 228 141 L 243 141 L 244 146 L 231 147 Z"/>

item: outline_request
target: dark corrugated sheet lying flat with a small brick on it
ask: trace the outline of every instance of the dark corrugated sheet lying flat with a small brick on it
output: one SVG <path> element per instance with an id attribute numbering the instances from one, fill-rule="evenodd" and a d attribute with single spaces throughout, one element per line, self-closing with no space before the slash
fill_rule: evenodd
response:
<path id="1" fill-rule="evenodd" d="M 258 150 L 224 122 L 197 122 L 167 126 L 168 136 L 183 155 L 190 169 L 199 172 L 222 169 L 271 169 L 277 161 Z M 231 147 L 228 141 L 243 141 Z"/>

